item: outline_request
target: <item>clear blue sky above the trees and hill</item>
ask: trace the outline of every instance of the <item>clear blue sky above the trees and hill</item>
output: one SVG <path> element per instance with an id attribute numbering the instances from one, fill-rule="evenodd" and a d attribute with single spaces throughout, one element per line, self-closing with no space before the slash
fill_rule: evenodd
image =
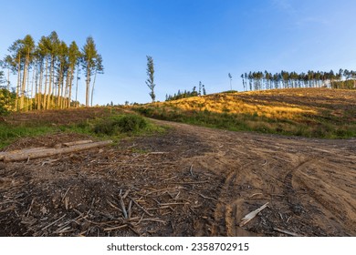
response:
<path id="1" fill-rule="evenodd" d="M 105 74 L 95 104 L 145 103 L 146 55 L 155 64 L 156 95 L 192 89 L 242 90 L 240 75 L 356 69 L 356 1 L 87 0 L 0 1 L 0 57 L 27 34 L 56 31 L 83 46 L 93 36 Z M 80 85 L 84 102 L 84 80 Z"/>

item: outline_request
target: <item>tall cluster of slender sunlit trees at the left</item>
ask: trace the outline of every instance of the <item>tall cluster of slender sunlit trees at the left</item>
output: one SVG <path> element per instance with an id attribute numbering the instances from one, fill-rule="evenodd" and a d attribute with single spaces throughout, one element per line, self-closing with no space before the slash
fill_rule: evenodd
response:
<path id="1" fill-rule="evenodd" d="M 86 81 L 85 105 L 89 107 L 93 102 L 96 76 L 104 70 L 91 36 L 79 49 L 75 41 L 68 46 L 55 31 L 42 36 L 37 44 L 30 35 L 16 40 L 0 64 L 3 68 L 0 85 L 8 91 L 14 89 L 14 109 L 23 111 L 78 106 L 81 74 Z M 16 85 L 11 85 L 10 74 L 16 77 Z"/>

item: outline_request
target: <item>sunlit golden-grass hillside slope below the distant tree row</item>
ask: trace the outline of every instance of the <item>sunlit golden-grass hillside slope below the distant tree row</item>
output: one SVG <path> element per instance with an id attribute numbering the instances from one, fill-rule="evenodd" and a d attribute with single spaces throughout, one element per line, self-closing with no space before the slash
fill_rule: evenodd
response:
<path id="1" fill-rule="evenodd" d="M 356 136 L 356 91 L 292 88 L 220 93 L 136 107 L 141 114 L 229 130 L 315 138 Z"/>

